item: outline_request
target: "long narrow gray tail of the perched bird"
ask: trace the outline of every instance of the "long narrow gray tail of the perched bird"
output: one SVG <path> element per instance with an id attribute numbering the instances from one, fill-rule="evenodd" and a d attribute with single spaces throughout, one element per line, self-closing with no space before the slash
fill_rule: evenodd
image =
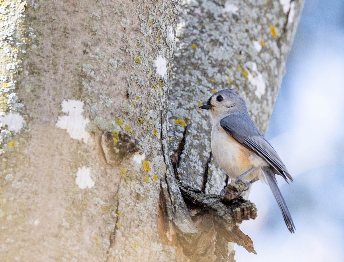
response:
<path id="1" fill-rule="evenodd" d="M 290 233 L 294 233 L 294 230 L 295 230 L 294 222 L 291 218 L 291 215 L 290 215 L 290 212 L 289 212 L 288 207 L 286 205 L 286 202 L 284 201 L 284 199 L 282 197 L 281 191 L 279 190 L 279 188 L 277 186 L 275 174 L 271 171 L 270 168 L 266 168 L 264 170 L 264 174 L 265 174 L 266 180 L 270 186 L 272 194 L 275 197 L 277 204 L 282 211 L 284 222 L 286 222 L 286 225 L 287 225 Z"/>

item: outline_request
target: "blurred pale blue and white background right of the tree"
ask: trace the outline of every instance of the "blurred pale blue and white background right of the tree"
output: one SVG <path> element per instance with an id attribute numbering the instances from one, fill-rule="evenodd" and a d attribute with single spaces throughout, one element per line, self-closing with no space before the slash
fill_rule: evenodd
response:
<path id="1" fill-rule="evenodd" d="M 290 234 L 267 185 L 252 185 L 255 220 L 241 229 L 257 255 L 238 262 L 344 261 L 344 1 L 306 0 L 267 139 L 290 174 L 278 179 L 296 227 Z"/>

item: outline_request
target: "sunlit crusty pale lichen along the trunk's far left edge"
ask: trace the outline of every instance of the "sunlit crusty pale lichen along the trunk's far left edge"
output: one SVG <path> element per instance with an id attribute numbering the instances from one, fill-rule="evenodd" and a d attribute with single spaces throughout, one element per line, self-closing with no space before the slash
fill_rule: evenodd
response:
<path id="1" fill-rule="evenodd" d="M 31 41 L 24 35 L 25 5 L 21 0 L 0 1 L 0 116 L 19 113 L 23 108 L 15 91 L 15 79 L 21 71 L 21 54 L 26 52 L 25 45 Z M 0 154 L 12 139 L 13 132 L 0 122 Z"/>

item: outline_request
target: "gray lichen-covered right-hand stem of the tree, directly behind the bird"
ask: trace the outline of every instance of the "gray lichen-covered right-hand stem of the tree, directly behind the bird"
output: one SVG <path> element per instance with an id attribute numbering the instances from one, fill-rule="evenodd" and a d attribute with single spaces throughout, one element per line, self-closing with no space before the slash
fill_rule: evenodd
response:
<path id="1" fill-rule="evenodd" d="M 183 144 L 175 168 L 181 182 L 208 194 L 218 194 L 228 182 L 211 154 L 208 112 L 198 109 L 215 91 L 237 88 L 266 132 L 302 6 L 303 1 L 181 0 L 168 133 L 172 158 Z M 219 232 L 213 233 L 216 239 Z M 209 243 L 214 246 L 216 241 Z"/>

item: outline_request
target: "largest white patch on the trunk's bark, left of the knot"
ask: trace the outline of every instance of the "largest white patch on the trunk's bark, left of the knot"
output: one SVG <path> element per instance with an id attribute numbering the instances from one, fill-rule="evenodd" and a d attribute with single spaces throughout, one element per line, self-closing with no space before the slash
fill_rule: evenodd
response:
<path id="1" fill-rule="evenodd" d="M 87 143 L 90 135 L 85 128 L 89 123 L 89 119 L 84 118 L 82 115 L 84 102 L 80 100 L 63 100 L 61 105 L 62 112 L 68 113 L 68 116 L 58 117 L 56 127 L 67 130 L 71 138 L 79 141 L 84 140 Z"/>

